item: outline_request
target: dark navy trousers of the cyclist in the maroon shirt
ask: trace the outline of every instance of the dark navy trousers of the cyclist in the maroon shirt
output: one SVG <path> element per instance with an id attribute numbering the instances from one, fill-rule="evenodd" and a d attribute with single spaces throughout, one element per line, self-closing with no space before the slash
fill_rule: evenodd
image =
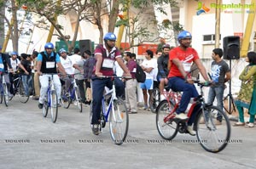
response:
<path id="1" fill-rule="evenodd" d="M 114 79 L 115 89 L 117 97 L 121 97 L 125 94 L 125 85 L 118 78 Z M 102 96 L 105 87 L 112 89 L 113 82 L 110 78 L 99 79 L 95 78 L 92 80 L 92 119 L 91 124 L 99 124 L 102 110 Z"/>

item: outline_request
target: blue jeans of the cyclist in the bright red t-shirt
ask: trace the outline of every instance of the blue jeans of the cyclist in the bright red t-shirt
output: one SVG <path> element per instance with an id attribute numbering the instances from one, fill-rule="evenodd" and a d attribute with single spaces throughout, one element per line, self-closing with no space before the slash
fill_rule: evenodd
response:
<path id="1" fill-rule="evenodd" d="M 181 77 L 172 77 L 169 79 L 168 86 L 172 88 L 173 91 L 183 92 L 182 98 L 180 100 L 180 105 L 176 110 L 176 113 L 184 113 L 187 110 L 189 101 L 191 98 L 197 97 L 199 94 L 194 86 L 194 84 L 189 84 Z M 199 105 L 195 106 L 192 115 L 189 117 L 188 125 L 191 126 L 195 121 L 195 112 L 200 108 Z"/>

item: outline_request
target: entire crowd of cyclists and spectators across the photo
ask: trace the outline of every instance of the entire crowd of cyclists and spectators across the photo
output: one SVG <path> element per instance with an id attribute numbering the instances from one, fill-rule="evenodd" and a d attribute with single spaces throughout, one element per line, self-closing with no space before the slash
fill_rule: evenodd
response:
<path id="1" fill-rule="evenodd" d="M 92 119 L 91 128 L 94 134 L 100 133 L 100 112 L 102 104 L 102 94 L 105 87 L 112 88 L 110 78 L 101 76 L 131 76 L 129 79 L 116 78 L 114 81 L 117 88 L 117 97 L 125 99 L 127 110 L 131 114 L 137 113 L 137 70 L 136 54 L 125 52 L 121 54 L 119 48 L 115 47 L 116 36 L 109 32 L 104 37 L 104 43 L 96 46 L 94 54 L 90 50 L 80 54 L 79 48 L 73 49 L 73 55 L 68 55 L 64 48 L 54 51 L 54 45 L 47 42 L 44 51 L 38 53 L 33 51 L 29 54 L 18 54 L 12 52 L 10 56 L 0 53 L 0 72 L 8 72 L 9 95 L 12 96 L 12 83 L 16 76 L 21 76 L 25 94 L 33 95 L 33 99 L 38 100 L 38 108 L 42 109 L 44 98 L 48 87 L 48 77 L 53 76 L 58 98 L 61 98 L 61 88 L 67 91 L 75 80 L 79 87 L 81 102 L 91 104 Z M 191 98 L 198 96 L 194 86 L 194 80 L 190 76 L 191 66 L 194 64 L 206 82 L 212 85 L 208 93 L 208 104 L 212 104 L 217 99 L 217 106 L 224 108 L 223 96 L 225 82 L 230 81 L 230 68 L 222 59 L 223 50 L 214 48 L 212 50 L 211 76 L 207 76 L 207 70 L 202 65 L 201 59 L 195 48 L 191 48 L 192 35 L 189 31 L 181 31 L 177 36 L 179 46 L 170 47 L 163 42 L 155 54 L 152 50 L 146 50 L 145 59 L 140 64 L 146 74 L 145 82 L 140 84 L 143 91 L 143 110 L 148 110 L 148 95 L 150 96 L 154 87 L 159 87 L 160 94 L 164 92 L 167 85 L 173 91 L 183 92 L 181 102 L 176 111 L 176 118 L 187 120 L 186 109 Z M 1 48 L 0 48 L 1 50 Z M 256 54 L 249 52 L 247 62 L 249 65 L 241 72 L 241 91 L 236 100 L 237 110 L 239 110 L 239 120 L 235 126 L 253 127 L 254 116 L 256 114 L 255 102 L 256 90 Z M 57 73 L 61 73 L 58 76 Z M 69 76 L 74 75 L 74 76 Z M 64 87 L 61 87 L 61 84 Z M 92 102 L 86 97 L 92 89 Z M 249 88 L 250 90 L 247 90 Z M 90 90 L 89 90 L 90 89 Z M 90 93 L 91 94 L 91 93 Z M 162 97 L 161 97 L 162 99 Z M 244 121 L 243 108 L 247 108 L 250 114 L 248 124 Z M 195 108 L 196 111 L 197 108 Z M 217 117 L 218 124 L 222 122 L 222 116 Z M 193 122 L 195 113 L 188 121 L 188 132 L 195 135 Z M 216 124 L 216 125 L 218 125 Z"/>

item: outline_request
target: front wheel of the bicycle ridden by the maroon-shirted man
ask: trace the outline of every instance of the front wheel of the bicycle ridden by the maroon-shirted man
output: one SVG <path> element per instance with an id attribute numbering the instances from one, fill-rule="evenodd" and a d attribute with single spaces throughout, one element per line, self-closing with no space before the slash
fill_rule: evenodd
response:
<path id="1" fill-rule="evenodd" d="M 122 99 L 113 101 L 109 116 L 109 131 L 114 144 L 123 144 L 129 127 L 129 115 Z"/>

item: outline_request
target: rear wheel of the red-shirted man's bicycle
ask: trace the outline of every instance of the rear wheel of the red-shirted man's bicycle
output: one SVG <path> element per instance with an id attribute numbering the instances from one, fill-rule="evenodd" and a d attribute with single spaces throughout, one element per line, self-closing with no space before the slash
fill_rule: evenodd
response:
<path id="1" fill-rule="evenodd" d="M 177 135 L 177 123 L 171 119 L 165 122 L 164 118 L 173 110 L 174 104 L 168 104 L 167 100 L 162 100 L 156 110 L 156 127 L 160 136 L 167 140 L 172 140 Z"/>

